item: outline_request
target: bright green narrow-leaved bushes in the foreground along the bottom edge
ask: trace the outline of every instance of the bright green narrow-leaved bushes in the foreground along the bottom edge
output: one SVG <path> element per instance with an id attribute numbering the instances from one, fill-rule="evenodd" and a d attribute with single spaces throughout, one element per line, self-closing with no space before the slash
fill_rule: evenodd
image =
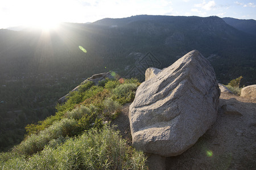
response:
<path id="1" fill-rule="evenodd" d="M 0 155 L 1 169 L 148 169 L 145 163 L 146 156 L 128 146 L 109 126 L 86 131 L 57 148 L 48 145 L 29 159 Z"/>

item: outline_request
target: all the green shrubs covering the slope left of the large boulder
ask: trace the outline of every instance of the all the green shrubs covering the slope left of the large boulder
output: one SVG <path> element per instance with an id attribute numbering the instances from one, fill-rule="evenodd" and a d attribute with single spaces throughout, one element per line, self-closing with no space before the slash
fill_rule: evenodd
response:
<path id="1" fill-rule="evenodd" d="M 138 81 L 82 84 L 54 116 L 26 127 L 24 141 L 0 154 L 1 169 L 147 169 L 146 156 L 109 126 Z"/>

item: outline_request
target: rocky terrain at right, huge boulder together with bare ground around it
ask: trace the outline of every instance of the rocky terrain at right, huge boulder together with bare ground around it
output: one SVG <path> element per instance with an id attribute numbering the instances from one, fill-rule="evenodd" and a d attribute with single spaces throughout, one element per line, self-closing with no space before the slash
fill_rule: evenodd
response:
<path id="1" fill-rule="evenodd" d="M 148 69 L 113 124 L 148 154 L 150 169 L 254 169 L 255 88 L 236 96 L 219 84 L 219 99 L 216 84 L 211 66 L 193 50 L 166 69 Z"/>

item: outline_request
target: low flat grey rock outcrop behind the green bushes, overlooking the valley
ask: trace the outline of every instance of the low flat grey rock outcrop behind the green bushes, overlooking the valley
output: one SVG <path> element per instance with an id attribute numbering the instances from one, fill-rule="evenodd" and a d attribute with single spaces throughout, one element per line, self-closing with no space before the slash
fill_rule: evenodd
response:
<path id="1" fill-rule="evenodd" d="M 88 81 L 91 81 L 93 82 L 94 84 L 98 84 L 98 82 L 102 81 L 102 80 L 105 80 L 106 78 L 109 78 L 109 79 L 114 79 L 114 78 L 117 78 L 116 77 L 117 74 L 114 73 L 113 71 L 109 71 L 108 73 L 100 73 L 100 74 L 94 74 L 93 76 L 91 76 L 90 78 L 84 80 L 84 82 L 82 82 L 81 84 L 85 84 L 86 82 Z M 79 86 L 77 86 L 76 88 L 74 88 L 72 91 L 70 91 L 67 95 L 61 97 L 59 100 L 58 100 L 58 103 L 65 103 L 65 101 L 67 100 L 67 96 L 73 92 L 73 91 L 78 91 L 79 90 L 79 87 L 81 86 L 81 84 Z"/>

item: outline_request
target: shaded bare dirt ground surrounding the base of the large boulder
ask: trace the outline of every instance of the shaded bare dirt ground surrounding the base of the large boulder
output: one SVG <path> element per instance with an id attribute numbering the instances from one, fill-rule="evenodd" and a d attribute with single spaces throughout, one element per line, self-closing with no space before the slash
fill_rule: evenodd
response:
<path id="1" fill-rule="evenodd" d="M 129 106 L 123 106 L 112 124 L 131 145 Z M 256 100 L 222 93 L 212 127 L 195 145 L 165 163 L 166 169 L 256 169 Z"/>

